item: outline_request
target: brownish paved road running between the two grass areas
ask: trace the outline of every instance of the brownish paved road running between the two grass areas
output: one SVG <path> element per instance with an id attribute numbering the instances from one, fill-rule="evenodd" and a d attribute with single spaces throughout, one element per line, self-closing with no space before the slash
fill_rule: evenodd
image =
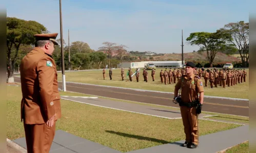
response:
<path id="1" fill-rule="evenodd" d="M 15 77 L 15 82 L 20 82 L 20 79 Z M 59 82 L 59 87 L 62 89 L 62 82 Z M 66 90 L 110 98 L 138 101 L 141 103 L 179 107 L 178 104 L 172 103 L 173 94 L 169 93 L 137 91 L 75 83 L 66 83 Z M 205 97 L 203 111 L 248 117 L 249 101 Z"/>

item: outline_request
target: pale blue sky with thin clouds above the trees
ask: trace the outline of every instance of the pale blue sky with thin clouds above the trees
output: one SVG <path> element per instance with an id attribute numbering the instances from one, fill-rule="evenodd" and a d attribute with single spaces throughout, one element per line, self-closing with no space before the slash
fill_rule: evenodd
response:
<path id="1" fill-rule="evenodd" d="M 60 38 L 60 1 L 4 2 L 8 17 L 35 20 Z M 252 0 L 62 0 L 63 39 L 88 43 L 98 50 L 109 41 L 127 50 L 184 53 L 198 50 L 186 38 L 193 32 L 215 32 L 229 22 L 249 21 Z"/>

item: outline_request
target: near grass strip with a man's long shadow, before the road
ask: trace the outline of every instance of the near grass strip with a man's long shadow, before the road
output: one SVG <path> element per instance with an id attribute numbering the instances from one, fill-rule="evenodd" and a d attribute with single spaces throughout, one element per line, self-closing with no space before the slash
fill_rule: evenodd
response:
<path id="1" fill-rule="evenodd" d="M 21 88 L 7 86 L 7 138 L 24 137 L 20 119 Z M 185 139 L 181 119 L 170 120 L 61 100 L 62 118 L 56 130 L 127 152 Z M 240 125 L 199 120 L 200 135 Z M 211 128 L 209 128 L 211 127 Z M 182 129 L 182 130 L 181 130 Z"/>

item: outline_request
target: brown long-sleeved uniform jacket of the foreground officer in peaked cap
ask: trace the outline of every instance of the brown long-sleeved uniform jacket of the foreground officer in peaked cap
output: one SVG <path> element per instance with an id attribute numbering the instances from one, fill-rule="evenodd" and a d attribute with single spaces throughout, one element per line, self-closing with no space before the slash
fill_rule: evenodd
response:
<path id="1" fill-rule="evenodd" d="M 21 62 L 21 119 L 26 124 L 42 124 L 55 113 L 61 118 L 61 97 L 53 58 L 35 47 Z"/>

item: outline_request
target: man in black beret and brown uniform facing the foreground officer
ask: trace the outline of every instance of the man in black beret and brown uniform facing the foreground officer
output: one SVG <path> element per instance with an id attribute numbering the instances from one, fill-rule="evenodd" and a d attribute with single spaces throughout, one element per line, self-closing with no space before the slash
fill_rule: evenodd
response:
<path id="1" fill-rule="evenodd" d="M 201 113 L 204 101 L 204 87 L 201 79 L 193 74 L 194 63 L 186 63 L 186 77 L 175 85 L 174 101 L 181 107 L 181 116 L 186 134 L 186 141 L 182 146 L 196 148 L 198 146 L 198 114 Z M 181 89 L 181 98 L 178 97 Z M 200 96 L 198 95 L 200 93 Z"/>

